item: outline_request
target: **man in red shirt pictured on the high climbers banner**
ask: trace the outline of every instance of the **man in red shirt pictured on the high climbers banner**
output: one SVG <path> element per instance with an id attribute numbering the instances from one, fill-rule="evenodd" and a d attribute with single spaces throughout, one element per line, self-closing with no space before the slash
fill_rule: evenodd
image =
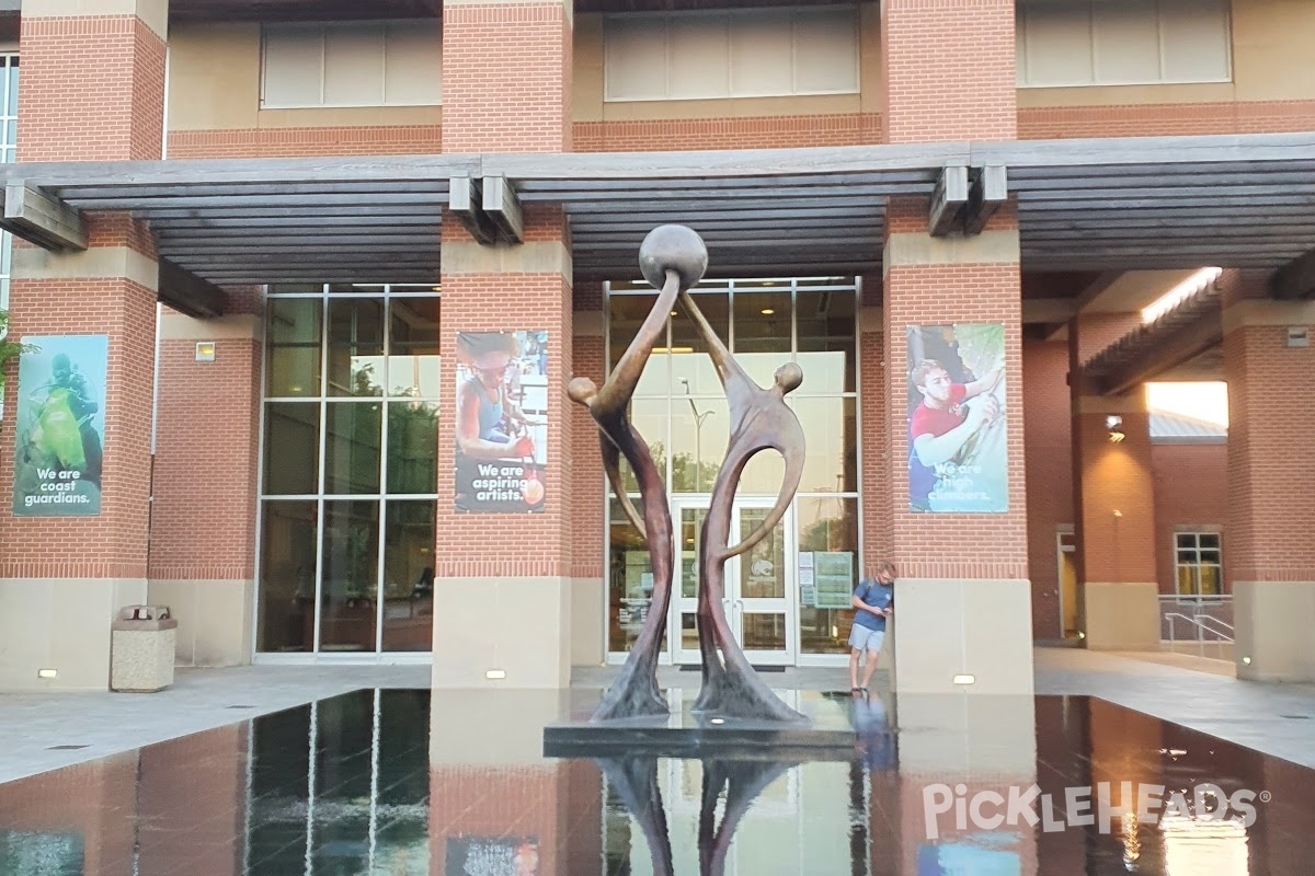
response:
<path id="1" fill-rule="evenodd" d="M 909 504 L 931 511 L 936 466 L 949 462 L 968 440 L 999 415 L 990 394 L 1003 374 L 997 368 L 981 380 L 956 383 L 935 359 L 924 359 L 909 376 L 922 402 L 909 418 Z"/>

